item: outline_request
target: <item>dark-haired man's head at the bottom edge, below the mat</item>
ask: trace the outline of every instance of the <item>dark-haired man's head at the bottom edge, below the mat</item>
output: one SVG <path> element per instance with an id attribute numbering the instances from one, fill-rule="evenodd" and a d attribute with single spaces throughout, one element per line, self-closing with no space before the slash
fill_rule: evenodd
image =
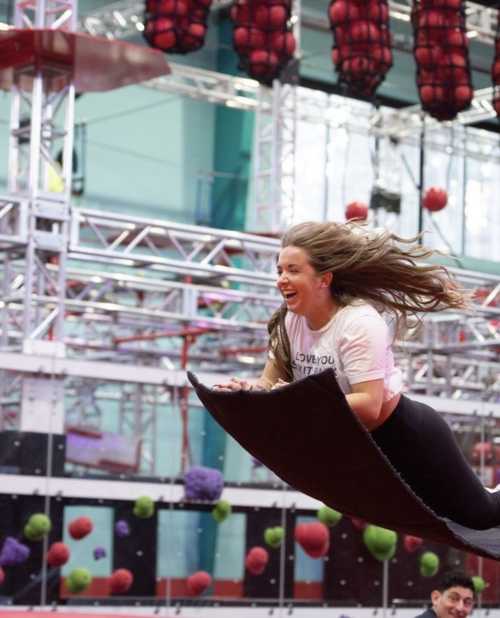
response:
<path id="1" fill-rule="evenodd" d="M 474 584 L 465 573 L 449 573 L 431 593 L 437 618 L 466 618 L 474 607 Z"/>

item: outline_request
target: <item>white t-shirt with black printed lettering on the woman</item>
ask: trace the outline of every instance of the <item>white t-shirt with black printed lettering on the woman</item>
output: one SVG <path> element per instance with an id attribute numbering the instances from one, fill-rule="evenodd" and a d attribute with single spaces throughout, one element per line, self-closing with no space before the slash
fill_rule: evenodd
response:
<path id="1" fill-rule="evenodd" d="M 318 330 L 288 311 L 285 327 L 295 380 L 331 368 L 344 394 L 352 392 L 352 384 L 380 378 L 384 401 L 401 392 L 402 374 L 394 366 L 389 327 L 372 305 L 356 302 L 342 307 Z"/>

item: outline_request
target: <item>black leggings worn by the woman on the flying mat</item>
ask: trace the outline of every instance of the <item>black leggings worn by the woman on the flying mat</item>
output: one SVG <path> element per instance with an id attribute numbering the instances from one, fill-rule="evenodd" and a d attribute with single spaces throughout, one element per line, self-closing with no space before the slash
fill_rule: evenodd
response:
<path id="1" fill-rule="evenodd" d="M 484 489 L 435 410 L 403 395 L 371 435 L 435 513 L 477 530 L 500 525 L 500 492 Z"/>

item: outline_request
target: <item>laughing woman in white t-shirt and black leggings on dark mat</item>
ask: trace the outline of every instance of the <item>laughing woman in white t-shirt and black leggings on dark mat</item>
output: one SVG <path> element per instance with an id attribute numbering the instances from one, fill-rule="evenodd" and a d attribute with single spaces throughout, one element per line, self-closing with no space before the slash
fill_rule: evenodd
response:
<path id="1" fill-rule="evenodd" d="M 269 321 L 262 376 L 215 388 L 271 389 L 333 369 L 352 411 L 415 493 L 438 515 L 486 529 L 500 525 L 500 492 L 481 485 L 437 412 L 401 394 L 381 316 L 392 316 L 398 333 L 417 313 L 467 307 L 444 267 L 418 263 L 431 254 L 414 239 L 356 223 L 292 227 L 277 262 L 284 302 Z"/>

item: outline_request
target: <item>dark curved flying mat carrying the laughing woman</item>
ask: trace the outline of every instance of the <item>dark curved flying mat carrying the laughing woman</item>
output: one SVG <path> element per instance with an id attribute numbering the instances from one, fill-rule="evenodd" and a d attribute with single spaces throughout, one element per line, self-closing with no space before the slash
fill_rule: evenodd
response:
<path id="1" fill-rule="evenodd" d="M 188 378 L 215 420 L 295 489 L 372 524 L 500 559 L 500 527 L 473 530 L 426 506 L 352 413 L 331 369 L 267 392 L 217 392 Z"/>

